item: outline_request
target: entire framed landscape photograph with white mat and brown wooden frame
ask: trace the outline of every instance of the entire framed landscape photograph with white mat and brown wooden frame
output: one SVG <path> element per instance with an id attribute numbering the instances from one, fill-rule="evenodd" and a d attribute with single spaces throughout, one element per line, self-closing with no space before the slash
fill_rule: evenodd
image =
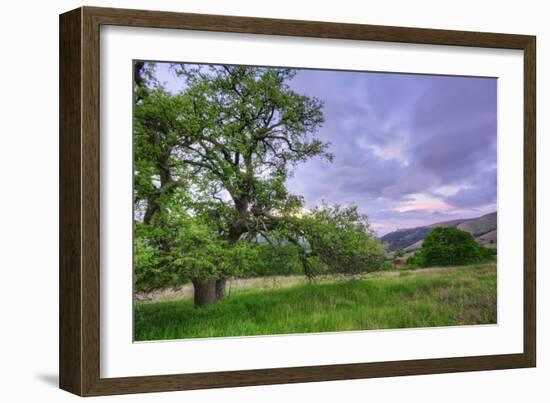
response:
<path id="1" fill-rule="evenodd" d="M 533 367 L 535 37 L 60 16 L 60 387 Z"/>

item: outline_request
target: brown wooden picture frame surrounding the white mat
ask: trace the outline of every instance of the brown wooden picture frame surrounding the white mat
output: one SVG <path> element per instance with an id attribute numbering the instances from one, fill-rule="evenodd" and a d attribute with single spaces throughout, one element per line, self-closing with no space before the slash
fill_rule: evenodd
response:
<path id="1" fill-rule="evenodd" d="M 523 353 L 100 377 L 99 35 L 101 25 L 481 48 L 524 56 Z M 60 16 L 60 387 L 80 396 L 534 367 L 536 363 L 535 37 L 483 32 L 81 7 Z"/>

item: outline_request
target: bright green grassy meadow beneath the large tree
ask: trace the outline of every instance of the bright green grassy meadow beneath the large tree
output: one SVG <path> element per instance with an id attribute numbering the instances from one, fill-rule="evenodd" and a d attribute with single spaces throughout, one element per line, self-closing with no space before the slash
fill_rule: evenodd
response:
<path id="1" fill-rule="evenodd" d="M 359 280 L 237 290 L 196 309 L 190 298 L 139 303 L 135 339 L 167 340 L 496 323 L 494 264 L 407 270 Z"/>

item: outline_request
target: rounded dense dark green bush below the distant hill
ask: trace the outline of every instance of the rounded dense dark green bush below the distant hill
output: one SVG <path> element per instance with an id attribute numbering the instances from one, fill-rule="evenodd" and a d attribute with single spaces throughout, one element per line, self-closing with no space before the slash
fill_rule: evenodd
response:
<path id="1" fill-rule="evenodd" d="M 420 251 L 407 259 L 407 266 L 458 266 L 495 258 L 496 251 L 480 246 L 472 234 L 455 227 L 438 227 L 424 238 Z"/>

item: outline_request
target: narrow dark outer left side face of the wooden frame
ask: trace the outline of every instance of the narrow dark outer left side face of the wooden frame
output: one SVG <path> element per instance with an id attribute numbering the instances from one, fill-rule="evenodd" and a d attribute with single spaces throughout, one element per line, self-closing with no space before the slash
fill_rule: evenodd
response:
<path id="1" fill-rule="evenodd" d="M 81 9 L 59 16 L 59 387 L 82 395 Z"/>

